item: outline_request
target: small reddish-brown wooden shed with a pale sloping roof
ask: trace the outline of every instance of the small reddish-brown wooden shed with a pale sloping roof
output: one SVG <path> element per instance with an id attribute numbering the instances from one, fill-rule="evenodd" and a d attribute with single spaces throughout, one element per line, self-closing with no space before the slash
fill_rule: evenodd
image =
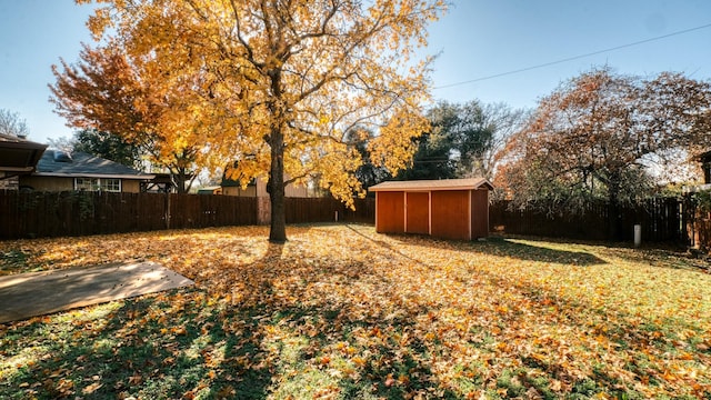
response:
<path id="1" fill-rule="evenodd" d="M 390 181 L 375 192 L 375 231 L 473 240 L 489 234 L 489 191 L 484 178 Z"/>

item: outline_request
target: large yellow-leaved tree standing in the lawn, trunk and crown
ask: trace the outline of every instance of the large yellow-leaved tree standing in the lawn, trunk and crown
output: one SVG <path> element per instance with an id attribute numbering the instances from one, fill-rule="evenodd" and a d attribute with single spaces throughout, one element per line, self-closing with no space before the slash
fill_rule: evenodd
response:
<path id="1" fill-rule="evenodd" d="M 429 59 L 413 56 L 442 0 L 98 2 L 97 39 L 166 103 L 151 131 L 199 141 L 201 163 L 236 166 L 228 174 L 243 183 L 269 179 L 271 241 L 287 239 L 287 183 L 318 177 L 351 203 L 362 192 L 349 129 L 377 131 L 372 161 L 395 172 L 428 128 Z"/>

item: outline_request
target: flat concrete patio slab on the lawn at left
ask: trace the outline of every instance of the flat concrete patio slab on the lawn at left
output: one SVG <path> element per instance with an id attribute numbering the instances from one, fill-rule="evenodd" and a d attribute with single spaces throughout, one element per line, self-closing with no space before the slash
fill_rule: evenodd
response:
<path id="1" fill-rule="evenodd" d="M 0 277 L 0 323 L 191 284 L 192 280 L 154 262 Z"/>

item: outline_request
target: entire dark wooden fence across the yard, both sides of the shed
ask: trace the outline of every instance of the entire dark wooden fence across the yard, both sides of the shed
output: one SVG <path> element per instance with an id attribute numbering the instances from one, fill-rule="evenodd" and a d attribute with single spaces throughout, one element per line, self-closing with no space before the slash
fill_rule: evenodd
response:
<path id="1" fill-rule="evenodd" d="M 262 199 L 263 200 L 263 199 Z M 257 198 L 207 194 L 19 192 L 0 191 L 0 239 L 86 236 L 160 229 L 246 226 L 263 222 L 263 201 Z M 268 201 L 267 201 L 268 203 Z M 374 223 L 373 199 L 356 200 L 356 210 L 332 198 L 287 198 L 287 223 Z M 609 238 L 610 209 L 592 204 L 583 213 L 545 213 L 511 209 L 493 202 L 492 231 L 552 238 Z M 268 212 L 267 212 L 268 214 Z M 678 199 L 651 199 L 619 211 L 622 240 L 633 239 L 642 226 L 643 241 L 680 241 L 711 248 L 711 218 Z M 689 231 L 687 230 L 689 229 Z"/>

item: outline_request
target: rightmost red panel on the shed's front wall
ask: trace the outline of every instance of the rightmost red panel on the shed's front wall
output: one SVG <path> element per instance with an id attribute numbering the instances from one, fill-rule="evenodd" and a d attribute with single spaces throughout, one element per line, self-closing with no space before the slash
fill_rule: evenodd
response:
<path id="1" fill-rule="evenodd" d="M 432 236 L 471 240 L 469 236 L 469 190 L 432 192 Z"/>

